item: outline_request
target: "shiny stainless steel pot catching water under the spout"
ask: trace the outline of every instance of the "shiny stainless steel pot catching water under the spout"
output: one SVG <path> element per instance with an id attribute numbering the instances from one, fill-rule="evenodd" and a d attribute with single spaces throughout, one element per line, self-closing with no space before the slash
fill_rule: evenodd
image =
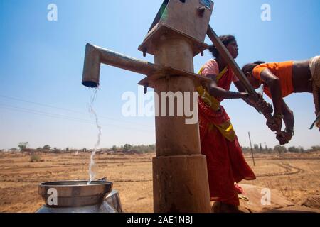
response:
<path id="1" fill-rule="evenodd" d="M 37 213 L 116 213 L 122 211 L 117 191 L 112 192 L 112 182 L 63 181 L 39 184 L 38 193 L 46 205 Z M 112 199 L 113 198 L 113 199 Z"/>

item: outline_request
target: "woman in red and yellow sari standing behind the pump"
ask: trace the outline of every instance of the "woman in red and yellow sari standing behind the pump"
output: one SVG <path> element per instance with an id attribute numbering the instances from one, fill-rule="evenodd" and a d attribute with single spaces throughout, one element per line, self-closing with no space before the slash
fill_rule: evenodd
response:
<path id="1" fill-rule="evenodd" d="M 220 40 L 236 58 L 238 45 L 235 37 L 224 35 Z M 248 102 L 248 95 L 215 46 L 210 46 L 209 50 L 215 59 L 208 60 L 199 72 L 213 80 L 208 87 L 198 87 L 201 152 L 207 157 L 211 201 L 218 201 L 216 204 L 221 212 L 236 212 L 239 199 L 235 182 L 255 179 L 255 174 L 242 155 L 230 118 L 220 102 L 223 99 L 245 99 Z M 231 82 L 240 92 L 229 91 Z"/>

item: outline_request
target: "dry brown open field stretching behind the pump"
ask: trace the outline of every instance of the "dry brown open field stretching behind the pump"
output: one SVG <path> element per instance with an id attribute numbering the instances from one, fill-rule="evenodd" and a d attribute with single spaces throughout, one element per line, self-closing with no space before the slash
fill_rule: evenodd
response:
<path id="1" fill-rule="evenodd" d="M 0 212 L 35 212 L 43 205 L 38 184 L 57 180 L 88 179 L 90 153 L 38 155 L 0 153 Z M 253 167 L 257 179 L 244 184 L 277 189 L 294 204 L 320 196 L 320 152 L 259 154 Z M 107 177 L 119 191 L 125 212 L 152 212 L 152 157 L 97 154 L 97 178 Z"/>

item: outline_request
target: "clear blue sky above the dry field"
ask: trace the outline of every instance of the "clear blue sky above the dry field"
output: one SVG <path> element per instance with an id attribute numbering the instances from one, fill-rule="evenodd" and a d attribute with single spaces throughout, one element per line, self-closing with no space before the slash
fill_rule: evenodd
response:
<path id="1" fill-rule="evenodd" d="M 0 0 L 0 148 L 28 141 L 33 148 L 92 148 L 95 119 L 88 113 L 93 91 L 81 85 L 85 44 L 108 48 L 153 62 L 137 50 L 161 0 Z M 48 4 L 58 6 L 58 21 L 48 21 Z M 262 4 L 270 4 L 271 21 L 261 21 Z M 217 0 L 210 25 L 219 35 L 238 40 L 240 66 L 254 60 L 303 60 L 320 54 L 320 1 Z M 210 40 L 206 39 L 206 43 Z M 197 71 L 206 60 L 194 58 Z M 121 96 L 137 93 L 144 76 L 102 66 L 95 110 L 102 125 L 101 147 L 155 143 L 154 118 L 122 116 Z M 235 89 L 233 87 L 232 89 Z M 320 145 L 311 94 L 289 96 L 296 133 L 289 145 Z M 265 119 L 243 101 L 224 101 L 243 146 L 277 145 Z"/>

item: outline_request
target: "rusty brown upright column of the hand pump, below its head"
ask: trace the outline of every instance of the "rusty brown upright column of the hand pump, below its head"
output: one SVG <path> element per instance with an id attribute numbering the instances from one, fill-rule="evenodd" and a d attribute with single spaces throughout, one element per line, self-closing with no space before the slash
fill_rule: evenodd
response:
<path id="1" fill-rule="evenodd" d="M 193 42 L 186 35 L 168 29 L 159 36 L 151 34 L 149 40 L 153 40 L 156 65 L 193 72 Z M 201 155 L 198 116 L 194 123 L 186 122 L 186 107 L 198 115 L 197 94 L 196 101 L 193 100 L 196 84 L 186 75 L 164 76 L 154 82 L 154 92 L 159 96 L 156 106 L 161 113 L 156 116 L 154 212 L 210 213 L 208 172 L 206 157 Z M 168 97 L 161 96 L 162 92 L 180 93 L 182 97 L 170 102 Z M 186 101 L 191 105 L 186 105 Z M 170 114 L 170 109 L 174 109 L 174 114 Z M 178 109 L 183 113 L 178 114 Z"/>

